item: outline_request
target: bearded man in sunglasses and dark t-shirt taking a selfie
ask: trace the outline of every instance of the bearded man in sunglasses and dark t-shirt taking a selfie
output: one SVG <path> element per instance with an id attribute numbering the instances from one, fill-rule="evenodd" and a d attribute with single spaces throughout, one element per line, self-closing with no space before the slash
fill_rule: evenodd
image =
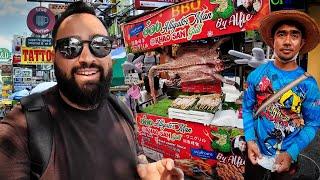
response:
<path id="1" fill-rule="evenodd" d="M 40 120 L 50 123 L 52 137 L 26 118 L 27 110 L 37 109 L 14 107 L 0 123 L 0 179 L 182 179 L 172 159 L 138 163 L 136 134 L 126 119 L 131 116 L 109 98 L 112 39 L 94 9 L 82 1 L 70 4 L 52 37 L 57 85 L 39 96 L 49 111 Z M 44 134 L 33 136 L 38 132 Z M 52 138 L 52 144 L 43 141 L 34 151 L 39 138 Z M 33 161 L 33 155 L 45 159 L 41 150 L 49 151 L 48 161 Z"/>

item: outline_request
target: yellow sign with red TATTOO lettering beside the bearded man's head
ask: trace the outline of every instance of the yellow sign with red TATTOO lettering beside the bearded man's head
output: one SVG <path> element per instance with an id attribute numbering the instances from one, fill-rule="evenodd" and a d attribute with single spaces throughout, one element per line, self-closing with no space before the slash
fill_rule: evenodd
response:
<path id="1" fill-rule="evenodd" d="M 53 49 L 22 47 L 20 64 L 45 64 L 52 63 Z"/>

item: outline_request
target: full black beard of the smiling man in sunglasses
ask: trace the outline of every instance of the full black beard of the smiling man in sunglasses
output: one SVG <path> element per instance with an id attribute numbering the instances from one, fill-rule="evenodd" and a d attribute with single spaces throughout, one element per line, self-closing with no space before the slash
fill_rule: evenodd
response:
<path id="1" fill-rule="evenodd" d="M 99 82 L 87 82 L 80 87 L 76 80 L 74 74 L 80 68 L 98 68 L 100 72 Z M 106 98 L 109 92 L 109 85 L 112 76 L 112 71 L 104 75 L 103 67 L 96 64 L 82 65 L 81 67 L 74 67 L 71 69 L 71 78 L 68 78 L 66 73 L 54 64 L 55 76 L 58 82 L 58 88 L 61 93 L 72 103 L 75 103 L 81 107 L 94 107 L 99 104 L 103 99 Z"/>

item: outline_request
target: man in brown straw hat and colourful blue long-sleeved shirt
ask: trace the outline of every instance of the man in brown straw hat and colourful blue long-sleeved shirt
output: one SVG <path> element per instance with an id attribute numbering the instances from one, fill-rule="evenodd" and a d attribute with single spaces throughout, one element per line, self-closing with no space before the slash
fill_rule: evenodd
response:
<path id="1" fill-rule="evenodd" d="M 299 54 L 319 43 L 319 28 L 303 12 L 282 10 L 261 21 L 260 33 L 273 48 L 275 61 L 259 66 L 247 78 L 243 103 L 248 147 L 245 179 L 291 179 L 299 153 L 320 125 L 317 83 L 296 63 Z M 303 80 L 288 86 L 301 77 Z M 265 103 L 270 97 L 274 100 Z"/>

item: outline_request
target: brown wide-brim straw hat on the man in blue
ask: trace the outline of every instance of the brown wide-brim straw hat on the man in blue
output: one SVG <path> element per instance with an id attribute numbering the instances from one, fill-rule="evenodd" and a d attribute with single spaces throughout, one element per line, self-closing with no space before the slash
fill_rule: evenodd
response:
<path id="1" fill-rule="evenodd" d="M 309 15 L 297 10 L 274 11 L 261 20 L 260 34 L 267 45 L 273 47 L 272 27 L 284 20 L 296 21 L 305 29 L 305 44 L 301 48 L 300 54 L 307 53 L 318 45 L 320 41 L 318 24 Z"/>

